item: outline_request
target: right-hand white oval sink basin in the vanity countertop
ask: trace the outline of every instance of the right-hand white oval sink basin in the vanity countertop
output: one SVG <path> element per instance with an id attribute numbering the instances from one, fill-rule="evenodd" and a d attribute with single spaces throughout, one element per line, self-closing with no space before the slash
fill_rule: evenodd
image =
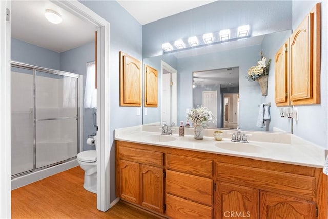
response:
<path id="1" fill-rule="evenodd" d="M 224 150 L 237 151 L 242 153 L 262 153 L 266 150 L 261 146 L 241 142 L 220 142 L 216 143 L 215 146 Z"/>

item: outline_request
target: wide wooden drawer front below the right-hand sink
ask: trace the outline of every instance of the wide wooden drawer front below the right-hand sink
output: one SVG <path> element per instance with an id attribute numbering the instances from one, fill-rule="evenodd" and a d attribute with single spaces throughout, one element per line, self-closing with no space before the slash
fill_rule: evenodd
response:
<path id="1" fill-rule="evenodd" d="M 297 196 L 312 198 L 315 194 L 315 178 L 272 170 L 261 170 L 234 164 L 216 163 L 219 181 L 254 185 L 259 189 L 271 189 L 297 193 Z"/>

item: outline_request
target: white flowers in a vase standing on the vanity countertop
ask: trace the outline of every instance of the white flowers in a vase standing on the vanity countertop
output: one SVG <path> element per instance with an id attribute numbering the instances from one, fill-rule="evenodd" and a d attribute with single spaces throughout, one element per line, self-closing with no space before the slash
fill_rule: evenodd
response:
<path id="1" fill-rule="evenodd" d="M 203 124 L 215 121 L 212 112 L 203 106 L 197 105 L 197 108 L 192 108 L 187 114 L 187 118 L 193 123 L 195 131 L 195 139 L 203 139 Z"/>

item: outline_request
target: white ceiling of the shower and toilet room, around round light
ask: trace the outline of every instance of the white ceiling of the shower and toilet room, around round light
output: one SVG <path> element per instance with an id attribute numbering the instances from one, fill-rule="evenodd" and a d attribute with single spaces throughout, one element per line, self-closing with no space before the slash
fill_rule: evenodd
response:
<path id="1" fill-rule="evenodd" d="M 63 22 L 50 23 L 44 13 L 53 9 Z M 95 27 L 50 1 L 12 1 L 11 36 L 27 43 L 63 52 L 93 41 Z"/>

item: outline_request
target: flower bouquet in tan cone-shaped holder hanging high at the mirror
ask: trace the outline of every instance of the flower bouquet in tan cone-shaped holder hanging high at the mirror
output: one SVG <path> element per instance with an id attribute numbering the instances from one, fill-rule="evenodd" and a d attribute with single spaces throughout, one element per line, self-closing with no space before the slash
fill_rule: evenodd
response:
<path id="1" fill-rule="evenodd" d="M 261 52 L 261 60 L 256 66 L 252 66 L 247 71 L 247 79 L 249 82 L 257 81 L 261 86 L 262 95 L 266 96 L 268 91 L 268 74 L 271 59 L 267 62 L 267 58 Z"/>

